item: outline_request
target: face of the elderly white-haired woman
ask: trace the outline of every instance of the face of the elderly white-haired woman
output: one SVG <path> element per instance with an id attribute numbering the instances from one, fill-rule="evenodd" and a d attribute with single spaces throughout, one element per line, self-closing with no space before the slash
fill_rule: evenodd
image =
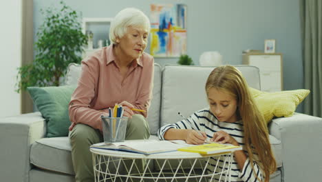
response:
<path id="1" fill-rule="evenodd" d="M 130 59 L 139 58 L 147 47 L 148 34 L 144 28 L 129 26 L 124 36 L 119 39 L 120 50 Z"/>

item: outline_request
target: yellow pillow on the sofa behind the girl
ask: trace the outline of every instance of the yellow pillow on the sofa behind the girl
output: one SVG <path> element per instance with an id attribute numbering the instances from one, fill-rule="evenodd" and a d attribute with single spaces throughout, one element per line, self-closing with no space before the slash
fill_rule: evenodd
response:
<path id="1" fill-rule="evenodd" d="M 273 117 L 292 117 L 297 105 L 305 99 L 310 90 L 288 90 L 281 92 L 262 92 L 255 88 L 250 88 L 259 111 L 264 115 L 267 123 Z"/>

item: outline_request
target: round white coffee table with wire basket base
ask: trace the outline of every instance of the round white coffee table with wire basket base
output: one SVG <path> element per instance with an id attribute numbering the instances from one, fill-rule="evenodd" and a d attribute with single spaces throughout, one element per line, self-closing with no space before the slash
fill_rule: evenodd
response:
<path id="1" fill-rule="evenodd" d="M 159 154 L 136 154 L 133 152 L 121 152 L 115 150 L 104 150 L 98 148 L 90 148 L 93 156 L 93 166 L 95 181 L 213 181 L 213 178 L 219 181 L 230 181 L 231 163 L 233 161 L 233 152 L 226 154 L 212 154 L 202 156 L 192 152 L 164 152 Z M 224 161 L 222 170 L 217 168 L 217 172 L 208 173 L 206 168 L 211 157 L 219 158 L 217 161 Z M 138 159 L 146 159 L 147 165 L 141 172 L 133 172 L 137 168 L 135 161 Z M 157 160 L 163 159 L 163 160 Z M 175 168 L 166 170 L 165 166 L 171 166 L 169 160 L 178 160 Z M 190 159 L 190 160 L 189 160 Z M 191 168 L 184 170 L 182 163 L 189 160 Z M 127 161 L 125 163 L 125 161 Z M 154 166 L 158 166 L 158 170 L 151 168 L 150 163 L 154 162 Z M 197 164 L 199 163 L 199 169 Z M 105 166 L 113 166 L 113 169 L 105 168 Z M 200 167 L 201 166 L 201 167 Z M 215 170 L 216 171 L 216 170 Z M 224 174 L 224 175 L 223 175 Z"/>

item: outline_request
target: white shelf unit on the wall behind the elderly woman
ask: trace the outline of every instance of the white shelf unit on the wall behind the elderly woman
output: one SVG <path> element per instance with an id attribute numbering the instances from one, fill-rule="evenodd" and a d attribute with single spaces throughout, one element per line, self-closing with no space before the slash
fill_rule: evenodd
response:
<path id="1" fill-rule="evenodd" d="M 83 34 L 86 33 L 86 30 L 88 30 L 88 28 L 89 28 L 89 24 L 94 25 L 94 24 L 102 24 L 103 23 L 103 24 L 107 24 L 108 26 L 110 26 L 112 20 L 113 20 L 113 18 L 86 18 L 85 17 L 85 18 L 83 18 L 82 32 L 83 32 Z M 106 32 L 107 32 L 106 37 L 109 37 L 107 30 L 106 30 Z M 95 38 L 95 34 L 94 34 L 93 39 L 94 38 Z M 96 40 L 96 39 L 94 39 L 94 40 Z M 94 42 L 94 44 L 95 44 L 95 42 Z M 82 57 L 85 58 L 98 49 L 99 48 L 94 48 L 94 49 L 85 48 Z"/>

